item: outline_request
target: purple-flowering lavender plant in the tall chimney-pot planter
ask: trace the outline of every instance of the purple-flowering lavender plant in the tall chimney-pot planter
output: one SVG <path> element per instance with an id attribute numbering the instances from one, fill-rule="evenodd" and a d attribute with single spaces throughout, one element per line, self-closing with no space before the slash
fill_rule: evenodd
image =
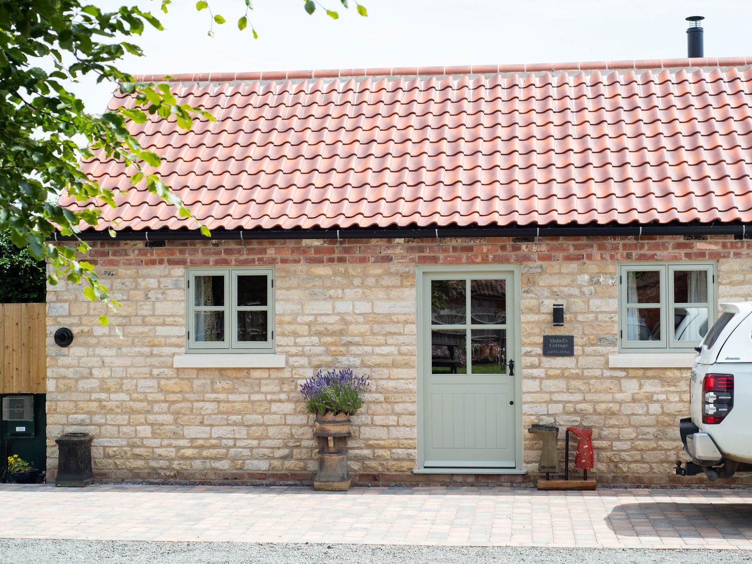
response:
<path id="1" fill-rule="evenodd" d="M 369 386 L 367 375 L 356 376 L 350 368 L 320 370 L 300 385 L 300 393 L 310 413 L 331 411 L 334 415 L 340 412 L 354 415 L 362 408 L 363 394 Z"/>

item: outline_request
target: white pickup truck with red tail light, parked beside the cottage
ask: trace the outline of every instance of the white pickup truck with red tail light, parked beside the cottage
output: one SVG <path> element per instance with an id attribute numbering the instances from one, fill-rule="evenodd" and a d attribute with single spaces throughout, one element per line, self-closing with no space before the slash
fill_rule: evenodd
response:
<path id="1" fill-rule="evenodd" d="M 690 416 L 679 423 L 692 462 L 675 472 L 708 480 L 752 472 L 752 302 L 722 304 L 722 314 L 696 347 Z"/>

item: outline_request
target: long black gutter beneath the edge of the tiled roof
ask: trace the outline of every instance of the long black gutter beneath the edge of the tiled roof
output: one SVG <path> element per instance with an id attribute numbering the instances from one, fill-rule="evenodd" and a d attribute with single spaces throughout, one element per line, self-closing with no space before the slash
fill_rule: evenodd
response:
<path id="1" fill-rule="evenodd" d="M 601 226 L 505 226 L 505 227 L 435 227 L 435 228 L 384 228 L 384 229 L 265 229 L 253 231 L 226 231 L 216 229 L 211 233 L 214 240 L 258 239 L 423 239 L 423 238 L 477 238 L 477 237 L 614 237 L 641 235 L 744 235 L 746 226 L 741 223 L 647 224 L 647 225 L 601 225 Z M 752 226 L 750 226 L 752 235 Z M 112 238 L 106 231 L 80 233 L 84 241 L 196 241 L 208 239 L 198 230 L 170 231 L 119 231 Z M 74 237 L 50 238 L 56 241 L 71 241 Z"/>

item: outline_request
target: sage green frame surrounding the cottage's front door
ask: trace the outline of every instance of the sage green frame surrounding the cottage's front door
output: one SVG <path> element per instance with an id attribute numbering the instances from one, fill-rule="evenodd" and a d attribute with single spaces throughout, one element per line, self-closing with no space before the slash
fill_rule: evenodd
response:
<path id="1" fill-rule="evenodd" d="M 512 274 L 512 288 L 514 296 L 511 300 L 511 309 L 509 317 L 514 320 L 516 338 L 514 339 L 514 358 L 519 359 L 515 362 L 517 374 L 514 375 L 514 422 L 517 425 L 517 432 L 514 433 L 514 468 L 425 468 L 425 406 L 423 405 L 423 387 L 424 371 L 426 369 L 423 361 L 423 350 L 426 347 L 426 311 L 423 305 L 423 280 L 425 274 L 456 274 L 467 277 L 473 273 L 482 276 L 499 272 L 503 274 Z M 522 326 L 520 310 L 520 265 L 511 264 L 485 264 L 485 265 L 431 265 L 418 266 L 415 273 L 415 298 L 416 308 L 416 338 L 417 338 L 417 468 L 414 474 L 524 474 L 522 458 Z M 508 306 L 509 307 L 509 306 Z"/>

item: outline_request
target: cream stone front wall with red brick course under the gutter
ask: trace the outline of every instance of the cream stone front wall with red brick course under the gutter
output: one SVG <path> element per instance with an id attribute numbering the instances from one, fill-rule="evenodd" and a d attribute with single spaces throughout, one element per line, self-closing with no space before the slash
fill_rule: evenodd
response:
<path id="1" fill-rule="evenodd" d="M 617 262 L 715 260 L 718 296 L 752 298 L 752 251 L 732 237 L 510 238 L 336 241 L 143 241 L 92 244 L 89 259 L 122 302 L 102 327 L 101 305 L 61 283 L 47 294 L 48 475 L 63 432 L 96 438 L 106 481 L 308 483 L 316 468 L 312 417 L 299 381 L 318 368 L 371 376 L 353 417 L 356 483 L 475 484 L 530 476 L 413 475 L 417 459 L 418 265 L 518 264 L 522 296 L 523 429 L 530 423 L 593 426 L 596 475 L 613 484 L 686 484 L 678 420 L 689 405 L 687 369 L 610 369 L 617 352 Z M 173 368 L 184 352 L 185 268 L 274 266 L 277 353 L 285 368 Z M 566 326 L 551 326 L 563 302 Z M 71 347 L 55 329 L 70 327 Z M 118 337 L 116 328 L 123 336 Z M 575 335 L 575 356 L 541 356 L 541 335 Z M 535 476 L 539 443 L 523 432 Z M 562 444 L 562 443 L 560 443 Z M 694 478 L 702 482 L 704 478 Z"/>

